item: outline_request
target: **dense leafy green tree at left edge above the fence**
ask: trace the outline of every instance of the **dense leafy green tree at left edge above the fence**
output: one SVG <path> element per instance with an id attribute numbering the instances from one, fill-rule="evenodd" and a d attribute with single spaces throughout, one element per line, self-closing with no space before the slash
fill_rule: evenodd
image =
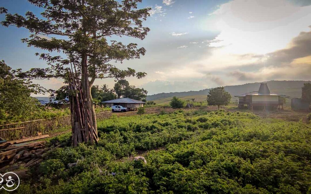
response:
<path id="1" fill-rule="evenodd" d="M 31 93 L 44 92 L 38 84 L 18 77 L 21 69 L 12 70 L 0 61 L 0 124 L 7 121 L 27 120 L 39 110 L 39 101 Z"/>

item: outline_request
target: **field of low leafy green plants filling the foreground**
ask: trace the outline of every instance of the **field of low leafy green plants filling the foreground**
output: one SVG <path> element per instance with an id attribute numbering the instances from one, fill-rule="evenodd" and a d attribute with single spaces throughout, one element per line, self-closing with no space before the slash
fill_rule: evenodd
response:
<path id="1" fill-rule="evenodd" d="M 98 130 L 98 145 L 80 144 L 50 151 L 39 172 L 34 172 L 39 180 L 21 184 L 17 192 L 310 190 L 311 125 L 303 121 L 261 119 L 252 113 L 223 110 L 179 110 L 171 114 L 114 116 L 98 122 Z M 66 134 L 53 141 L 69 138 L 70 134 Z M 127 158 L 142 151 L 148 151 L 143 154 L 147 164 Z M 77 165 L 68 167 L 76 161 Z"/>

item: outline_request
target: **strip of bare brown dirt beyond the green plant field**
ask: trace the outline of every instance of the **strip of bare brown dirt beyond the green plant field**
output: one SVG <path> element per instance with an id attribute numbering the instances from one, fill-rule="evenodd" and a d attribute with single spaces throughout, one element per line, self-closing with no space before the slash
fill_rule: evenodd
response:
<path id="1" fill-rule="evenodd" d="M 255 115 L 258 115 L 262 118 L 273 118 L 273 119 L 282 119 L 286 121 L 299 121 L 300 119 L 306 121 L 306 115 L 309 112 L 306 111 L 295 111 L 290 109 L 290 107 L 285 107 L 284 110 L 274 110 L 274 111 L 251 111 L 246 109 L 238 109 L 234 106 L 225 106 L 221 107 L 227 111 L 243 111 L 243 112 L 253 112 Z M 162 106 L 154 106 L 154 107 L 146 107 L 145 114 L 152 113 L 160 113 L 161 111 L 165 111 L 166 113 L 174 112 L 179 109 L 173 109 L 170 107 L 162 107 Z M 194 107 L 194 108 L 181 108 L 184 111 L 190 110 L 206 110 L 206 111 L 216 111 L 217 106 L 204 106 L 204 107 Z M 132 116 L 137 115 L 137 111 L 129 111 L 129 112 L 114 112 L 113 115 L 116 116 Z"/>

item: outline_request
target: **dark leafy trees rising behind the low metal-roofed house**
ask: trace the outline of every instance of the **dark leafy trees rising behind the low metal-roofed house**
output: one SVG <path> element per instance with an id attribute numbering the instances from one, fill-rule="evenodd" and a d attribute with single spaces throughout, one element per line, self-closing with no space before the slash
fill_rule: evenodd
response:
<path id="1" fill-rule="evenodd" d="M 142 100 L 147 97 L 147 90 L 144 88 L 136 88 L 128 83 L 127 80 L 119 80 L 114 84 L 114 91 L 118 95 L 118 98 L 132 98 L 135 100 Z"/>

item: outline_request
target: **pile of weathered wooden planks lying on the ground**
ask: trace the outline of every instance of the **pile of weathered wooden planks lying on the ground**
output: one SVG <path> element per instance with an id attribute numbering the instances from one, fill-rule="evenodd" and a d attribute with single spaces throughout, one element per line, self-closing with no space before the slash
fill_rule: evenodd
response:
<path id="1" fill-rule="evenodd" d="M 21 166 L 30 168 L 42 162 L 44 160 L 43 154 L 55 147 L 46 147 L 45 141 L 29 141 L 46 137 L 49 137 L 49 135 L 24 138 L 0 144 L 0 173 L 12 171 Z M 62 145 L 56 147 L 60 146 Z"/>

